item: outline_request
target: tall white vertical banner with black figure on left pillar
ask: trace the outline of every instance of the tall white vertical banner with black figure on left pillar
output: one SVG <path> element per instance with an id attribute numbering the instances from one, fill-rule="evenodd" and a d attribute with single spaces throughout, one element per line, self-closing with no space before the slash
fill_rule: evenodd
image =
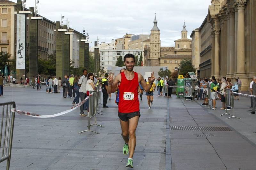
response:
<path id="1" fill-rule="evenodd" d="M 26 14 L 17 14 L 16 69 L 25 69 Z"/>

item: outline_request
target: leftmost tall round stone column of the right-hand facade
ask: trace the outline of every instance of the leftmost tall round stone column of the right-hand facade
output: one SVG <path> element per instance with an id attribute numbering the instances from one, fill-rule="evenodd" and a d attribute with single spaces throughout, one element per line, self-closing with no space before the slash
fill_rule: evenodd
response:
<path id="1" fill-rule="evenodd" d="M 214 76 L 220 78 L 220 29 L 214 28 Z"/>

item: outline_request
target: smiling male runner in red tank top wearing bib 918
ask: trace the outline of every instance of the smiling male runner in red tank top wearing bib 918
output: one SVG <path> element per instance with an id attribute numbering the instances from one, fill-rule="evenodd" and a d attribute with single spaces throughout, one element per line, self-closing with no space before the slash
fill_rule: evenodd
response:
<path id="1" fill-rule="evenodd" d="M 118 116 L 122 128 L 122 136 L 124 139 L 123 154 L 129 153 L 128 163 L 126 167 L 133 167 L 133 154 L 136 146 L 135 131 L 140 117 L 140 103 L 138 98 L 139 82 L 145 91 L 149 91 L 155 81 L 154 72 L 151 74 L 151 82 L 147 84 L 142 75 L 133 71 L 135 57 L 132 54 L 124 56 L 124 64 L 126 70 L 118 74 L 113 80 L 114 74 L 108 81 L 108 93 L 114 93 L 116 86 L 119 83 L 119 104 Z"/>

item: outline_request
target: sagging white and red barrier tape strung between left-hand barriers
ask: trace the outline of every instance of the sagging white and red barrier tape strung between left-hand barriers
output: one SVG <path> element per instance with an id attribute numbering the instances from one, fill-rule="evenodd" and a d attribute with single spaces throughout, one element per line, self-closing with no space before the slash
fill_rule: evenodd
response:
<path id="1" fill-rule="evenodd" d="M 92 92 L 93 94 L 94 92 Z M 26 115 L 26 116 L 30 116 L 30 117 L 37 117 L 37 118 L 50 118 L 50 117 L 57 117 L 57 116 L 61 116 L 61 115 L 64 115 L 66 113 L 69 113 L 73 110 L 76 110 L 77 108 L 79 108 L 79 106 L 81 106 L 82 104 L 84 104 L 90 96 L 92 96 L 92 94 L 90 94 L 89 96 L 87 96 L 82 102 L 80 103 L 77 103 L 75 106 L 73 106 L 71 109 L 69 110 L 65 110 L 65 111 L 62 111 L 60 113 L 56 113 L 56 114 L 53 114 L 53 115 L 40 115 L 40 114 L 36 114 L 36 113 L 32 113 L 32 112 L 25 112 L 25 111 L 21 111 L 21 110 L 15 110 L 13 109 L 12 111 L 15 111 L 17 113 L 19 113 L 20 115 Z"/>

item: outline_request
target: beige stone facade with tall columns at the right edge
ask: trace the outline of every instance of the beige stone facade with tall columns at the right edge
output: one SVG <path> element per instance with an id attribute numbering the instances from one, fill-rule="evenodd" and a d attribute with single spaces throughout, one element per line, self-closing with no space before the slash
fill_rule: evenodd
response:
<path id="1" fill-rule="evenodd" d="M 208 72 L 207 76 L 226 76 L 233 80 L 239 77 L 242 90 L 248 90 L 250 78 L 256 75 L 256 3 L 254 0 L 212 0 L 211 3 L 205 23 L 211 29 L 204 26 L 206 42 L 211 42 L 211 75 Z M 201 59 L 200 72 L 207 60 L 206 56 Z"/>

